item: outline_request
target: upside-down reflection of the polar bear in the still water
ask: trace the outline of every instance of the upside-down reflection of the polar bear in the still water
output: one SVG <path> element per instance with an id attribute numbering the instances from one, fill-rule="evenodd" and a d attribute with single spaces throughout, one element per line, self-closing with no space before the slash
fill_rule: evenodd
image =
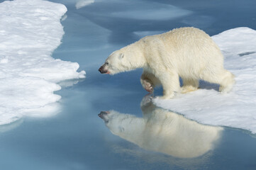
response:
<path id="1" fill-rule="evenodd" d="M 223 128 L 201 125 L 182 115 L 157 108 L 149 97 L 141 103 L 143 118 L 135 115 L 102 111 L 109 130 L 143 149 L 162 152 L 173 157 L 199 157 L 221 137 Z"/>

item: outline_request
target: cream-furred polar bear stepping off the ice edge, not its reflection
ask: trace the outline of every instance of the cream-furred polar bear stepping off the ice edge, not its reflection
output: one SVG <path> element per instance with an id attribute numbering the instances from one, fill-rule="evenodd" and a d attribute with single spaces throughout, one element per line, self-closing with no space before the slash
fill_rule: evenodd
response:
<path id="1" fill-rule="evenodd" d="M 223 55 L 211 37 L 198 28 L 177 28 L 146 36 L 112 52 L 99 68 L 101 74 L 116 74 L 143 68 L 140 82 L 152 93 L 162 85 L 163 96 L 187 93 L 199 88 L 199 79 L 220 84 L 219 91 L 232 89 L 234 76 L 223 67 Z M 179 77 L 183 86 L 180 88 Z"/>

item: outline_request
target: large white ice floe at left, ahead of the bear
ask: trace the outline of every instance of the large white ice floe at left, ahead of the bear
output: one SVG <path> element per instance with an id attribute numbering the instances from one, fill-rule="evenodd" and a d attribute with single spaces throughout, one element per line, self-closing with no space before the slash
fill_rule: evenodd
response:
<path id="1" fill-rule="evenodd" d="M 51 57 L 64 34 L 67 8 L 41 0 L 0 4 L 0 125 L 24 115 L 47 116 L 60 108 L 57 83 L 85 77 L 79 64 Z"/>

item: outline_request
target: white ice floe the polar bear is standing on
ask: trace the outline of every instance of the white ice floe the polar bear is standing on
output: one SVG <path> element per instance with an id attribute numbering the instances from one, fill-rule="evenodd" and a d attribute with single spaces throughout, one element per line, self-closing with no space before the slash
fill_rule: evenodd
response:
<path id="1" fill-rule="evenodd" d="M 157 106 L 181 113 L 208 125 L 242 128 L 256 133 L 256 30 L 234 28 L 214 35 L 225 57 L 225 67 L 235 74 L 236 84 L 229 94 L 218 86 L 202 83 L 201 89 L 157 100 Z"/>

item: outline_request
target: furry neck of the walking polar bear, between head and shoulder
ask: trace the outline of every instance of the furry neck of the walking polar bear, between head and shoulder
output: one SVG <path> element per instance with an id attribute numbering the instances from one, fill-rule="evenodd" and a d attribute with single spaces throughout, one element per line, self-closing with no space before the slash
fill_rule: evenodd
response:
<path id="1" fill-rule="evenodd" d="M 121 48 L 121 52 L 127 57 L 130 62 L 130 70 L 143 68 L 146 65 L 145 55 L 143 53 L 143 47 L 140 47 L 140 43 L 134 42 Z"/>

